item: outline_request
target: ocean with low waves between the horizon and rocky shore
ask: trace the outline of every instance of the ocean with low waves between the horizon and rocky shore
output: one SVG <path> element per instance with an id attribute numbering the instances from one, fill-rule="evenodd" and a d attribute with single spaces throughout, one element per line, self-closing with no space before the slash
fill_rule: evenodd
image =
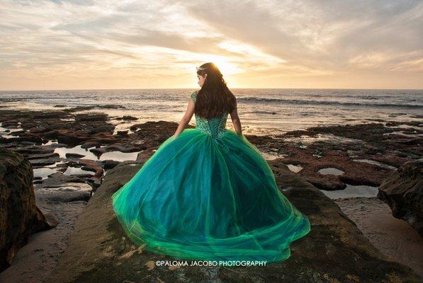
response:
<path id="1" fill-rule="evenodd" d="M 190 94 L 198 88 L 72 91 L 0 91 L 0 109 L 57 110 L 117 105 L 80 112 L 132 115 L 135 122 L 179 122 Z M 423 90 L 231 88 L 244 134 L 281 134 L 317 125 L 422 120 Z M 60 107 L 55 107 L 60 105 Z M 113 121 L 112 121 L 113 122 Z M 117 130 L 135 123 L 115 120 Z M 191 125 L 195 125 L 193 117 Z M 227 127 L 232 128 L 230 117 Z"/>

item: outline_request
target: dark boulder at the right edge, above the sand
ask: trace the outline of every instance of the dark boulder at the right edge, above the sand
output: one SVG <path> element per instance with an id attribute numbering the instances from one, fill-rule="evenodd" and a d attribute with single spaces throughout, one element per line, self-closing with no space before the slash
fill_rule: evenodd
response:
<path id="1" fill-rule="evenodd" d="M 423 236 L 423 159 L 402 164 L 383 181 L 377 197 Z"/>

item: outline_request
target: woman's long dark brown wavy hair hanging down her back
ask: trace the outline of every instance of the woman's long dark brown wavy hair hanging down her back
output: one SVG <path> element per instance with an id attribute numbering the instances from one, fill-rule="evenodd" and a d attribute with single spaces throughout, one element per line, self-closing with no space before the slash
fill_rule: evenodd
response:
<path id="1" fill-rule="evenodd" d="M 237 105 L 237 98 L 227 88 L 218 67 L 211 62 L 205 63 L 197 68 L 197 74 L 200 76 L 207 74 L 207 76 L 201 90 L 197 93 L 194 112 L 206 119 L 232 112 Z"/>

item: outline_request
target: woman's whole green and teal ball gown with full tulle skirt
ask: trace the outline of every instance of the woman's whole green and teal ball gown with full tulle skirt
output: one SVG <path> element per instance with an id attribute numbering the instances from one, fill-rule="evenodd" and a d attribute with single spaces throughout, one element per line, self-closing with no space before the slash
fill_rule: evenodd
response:
<path id="1" fill-rule="evenodd" d="M 277 262 L 309 233 L 308 217 L 278 189 L 256 146 L 225 127 L 227 116 L 195 115 L 195 129 L 169 137 L 112 195 L 133 243 L 181 259 Z"/>

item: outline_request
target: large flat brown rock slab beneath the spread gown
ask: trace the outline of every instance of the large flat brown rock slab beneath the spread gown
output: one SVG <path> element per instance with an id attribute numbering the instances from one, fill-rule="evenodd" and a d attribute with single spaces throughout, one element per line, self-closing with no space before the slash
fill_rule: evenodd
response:
<path id="1" fill-rule="evenodd" d="M 116 219 L 111 195 L 140 169 L 125 161 L 108 171 L 79 214 L 69 246 L 47 283 L 65 282 L 423 282 L 369 243 L 337 204 L 282 163 L 271 163 L 286 197 L 308 215 L 311 231 L 291 244 L 291 258 L 266 266 L 157 266 L 184 260 L 134 246 Z M 188 264 L 191 264 L 188 260 Z"/>

